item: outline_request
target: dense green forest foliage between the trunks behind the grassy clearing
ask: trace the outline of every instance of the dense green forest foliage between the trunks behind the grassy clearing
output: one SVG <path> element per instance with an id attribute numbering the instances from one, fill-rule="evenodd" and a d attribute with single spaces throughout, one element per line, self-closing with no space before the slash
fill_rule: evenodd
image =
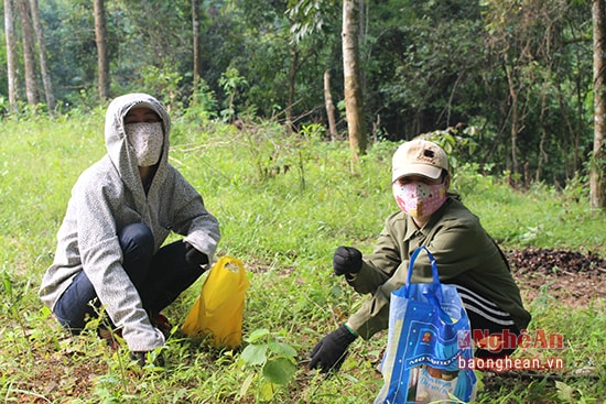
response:
<path id="1" fill-rule="evenodd" d="M 343 99 L 339 1 L 199 4 L 204 81 L 194 88 L 191 1 L 105 0 L 111 96 L 143 90 L 173 110 L 195 105 L 195 119 L 327 127 L 325 70 L 335 103 Z M 40 9 L 57 108 L 96 107 L 93 1 L 41 1 Z M 457 134 L 478 145 L 480 168 L 512 183 L 564 186 L 585 174 L 593 139 L 588 1 L 368 0 L 361 21 L 369 137 L 411 139 L 459 124 Z"/>

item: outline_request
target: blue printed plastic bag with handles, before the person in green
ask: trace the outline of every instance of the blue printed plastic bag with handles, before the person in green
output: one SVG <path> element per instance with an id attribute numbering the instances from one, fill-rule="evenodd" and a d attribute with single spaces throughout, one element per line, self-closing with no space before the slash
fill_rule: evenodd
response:
<path id="1" fill-rule="evenodd" d="M 432 283 L 411 284 L 422 250 L 430 258 Z M 459 367 L 473 356 L 469 318 L 458 292 L 440 283 L 435 259 L 420 247 L 410 259 L 405 285 L 391 293 L 385 383 L 375 404 L 468 402 L 475 397 L 476 376 Z"/>

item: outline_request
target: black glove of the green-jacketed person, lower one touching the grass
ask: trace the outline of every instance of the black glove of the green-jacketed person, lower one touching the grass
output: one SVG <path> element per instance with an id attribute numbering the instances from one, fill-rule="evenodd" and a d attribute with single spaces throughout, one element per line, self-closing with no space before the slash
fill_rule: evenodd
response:
<path id="1" fill-rule="evenodd" d="M 328 373 L 331 370 L 339 370 L 347 348 L 357 337 L 351 334 L 344 325 L 322 338 L 310 353 L 310 369 L 320 368 L 322 373 Z"/>

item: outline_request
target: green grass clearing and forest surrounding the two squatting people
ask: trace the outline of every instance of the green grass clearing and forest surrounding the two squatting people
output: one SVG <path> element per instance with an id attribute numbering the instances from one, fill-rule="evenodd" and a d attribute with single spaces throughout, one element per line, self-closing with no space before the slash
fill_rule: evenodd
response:
<path id="1" fill-rule="evenodd" d="M 389 159 L 423 134 L 448 150 L 455 188 L 509 253 L 531 330 L 565 336 L 564 350 L 520 352 L 563 358 L 564 370 L 484 374 L 477 402 L 603 403 L 606 216 L 589 209 L 588 177 L 604 173 L 591 156 L 592 7 L 604 1 L 356 3 L 369 141 L 357 166 L 342 2 L 4 0 L 6 402 L 370 402 L 385 335 L 356 342 L 332 379 L 305 369 L 307 351 L 361 302 L 331 276 L 334 249 L 370 251 L 394 208 Z M 246 263 L 245 345 L 263 354 L 210 350 L 175 329 L 166 369 L 141 370 L 94 334 L 66 338 L 41 307 L 69 188 L 105 153 L 107 101 L 130 91 L 170 109 L 171 163 L 219 218 L 219 255 Z M 199 286 L 166 313 L 175 324 Z"/>

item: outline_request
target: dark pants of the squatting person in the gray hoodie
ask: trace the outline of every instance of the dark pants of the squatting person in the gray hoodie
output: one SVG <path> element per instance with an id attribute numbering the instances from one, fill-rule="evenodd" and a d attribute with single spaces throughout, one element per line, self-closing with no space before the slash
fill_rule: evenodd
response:
<path id="1" fill-rule="evenodd" d="M 125 227 L 118 238 L 123 253 L 122 267 L 150 316 L 173 303 L 204 272 L 199 265 L 185 261 L 183 241 L 164 245 L 153 254 L 153 236 L 143 223 Z M 95 287 L 83 271 L 57 301 L 54 314 L 63 327 L 79 334 L 88 318 L 98 317 L 99 307 Z"/>

